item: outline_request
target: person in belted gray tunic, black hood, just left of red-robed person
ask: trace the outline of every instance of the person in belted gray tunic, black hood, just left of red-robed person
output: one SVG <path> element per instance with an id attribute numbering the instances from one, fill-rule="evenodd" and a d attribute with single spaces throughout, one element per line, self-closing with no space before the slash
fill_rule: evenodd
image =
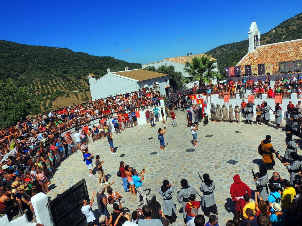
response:
<path id="1" fill-rule="evenodd" d="M 210 213 L 218 214 L 215 203 L 214 189 L 215 183 L 210 180 L 209 174 L 202 175 L 204 182 L 201 183 L 199 190 L 202 192 L 201 205 L 204 207 L 204 215 L 210 216 Z"/>

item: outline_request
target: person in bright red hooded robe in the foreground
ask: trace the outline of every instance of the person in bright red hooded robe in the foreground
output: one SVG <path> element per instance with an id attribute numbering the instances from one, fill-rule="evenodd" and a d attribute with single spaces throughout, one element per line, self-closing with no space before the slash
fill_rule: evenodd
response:
<path id="1" fill-rule="evenodd" d="M 246 202 L 243 200 L 243 195 L 248 194 L 251 197 L 251 189 L 240 180 L 238 174 L 234 177 L 234 183 L 230 187 L 230 193 L 233 201 L 235 202 L 235 212 L 237 217 L 243 214 L 243 207 Z"/>

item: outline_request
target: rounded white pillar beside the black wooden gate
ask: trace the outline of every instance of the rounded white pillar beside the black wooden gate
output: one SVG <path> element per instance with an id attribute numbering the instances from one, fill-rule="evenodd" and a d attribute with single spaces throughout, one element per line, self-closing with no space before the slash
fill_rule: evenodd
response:
<path id="1" fill-rule="evenodd" d="M 40 192 L 31 197 L 31 203 L 34 207 L 37 223 L 43 224 L 44 226 L 53 226 L 53 222 L 50 217 L 50 211 L 46 207 L 48 203 L 47 196 L 44 193 Z"/>

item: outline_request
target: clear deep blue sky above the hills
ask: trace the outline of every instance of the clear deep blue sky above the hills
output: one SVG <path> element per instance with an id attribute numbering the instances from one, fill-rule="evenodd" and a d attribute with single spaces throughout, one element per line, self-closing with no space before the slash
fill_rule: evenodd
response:
<path id="1" fill-rule="evenodd" d="M 0 39 L 150 63 L 265 33 L 302 1 L 1 1 Z"/>

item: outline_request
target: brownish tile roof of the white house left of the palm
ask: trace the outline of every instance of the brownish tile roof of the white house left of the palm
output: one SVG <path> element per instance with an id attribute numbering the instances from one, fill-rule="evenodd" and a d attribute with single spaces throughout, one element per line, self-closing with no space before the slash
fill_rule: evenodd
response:
<path id="1" fill-rule="evenodd" d="M 145 81 L 145 80 L 150 80 L 150 79 L 154 79 L 154 78 L 168 76 L 167 74 L 158 73 L 158 72 L 154 72 L 154 71 L 148 71 L 148 70 L 144 70 L 144 69 L 118 71 L 118 72 L 113 72 L 113 74 L 117 74 L 117 75 L 124 76 L 127 78 L 135 79 L 138 81 Z"/>

